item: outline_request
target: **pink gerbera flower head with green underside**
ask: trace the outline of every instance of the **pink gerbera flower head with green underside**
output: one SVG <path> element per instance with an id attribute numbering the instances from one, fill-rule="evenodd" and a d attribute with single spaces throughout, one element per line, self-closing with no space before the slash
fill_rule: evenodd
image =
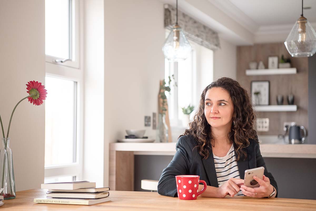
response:
<path id="1" fill-rule="evenodd" d="M 28 97 L 28 101 L 33 103 L 33 105 L 42 105 L 43 100 L 46 99 L 47 90 L 42 83 L 38 81 L 30 81 L 27 82 L 27 93 L 29 93 L 30 97 Z"/>

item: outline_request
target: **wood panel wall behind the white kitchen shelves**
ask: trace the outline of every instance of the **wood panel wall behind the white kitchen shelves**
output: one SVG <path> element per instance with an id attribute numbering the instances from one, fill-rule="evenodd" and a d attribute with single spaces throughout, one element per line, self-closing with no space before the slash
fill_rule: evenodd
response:
<path id="1" fill-rule="evenodd" d="M 257 132 L 258 135 L 283 134 L 283 123 L 294 121 L 303 125 L 308 135 L 308 59 L 291 57 L 291 66 L 297 69 L 294 75 L 254 75 L 246 76 L 249 62 L 263 61 L 268 68 L 268 57 L 281 55 L 291 57 L 283 43 L 255 44 L 252 46 L 237 47 L 237 81 L 250 94 L 251 81 L 270 81 L 270 105 L 276 104 L 276 95 L 282 94 L 283 105 L 288 105 L 286 96 L 294 95 L 294 105 L 298 106 L 296 112 L 258 112 L 257 118 L 269 118 L 269 131 Z M 256 126 L 255 126 L 256 128 Z"/>

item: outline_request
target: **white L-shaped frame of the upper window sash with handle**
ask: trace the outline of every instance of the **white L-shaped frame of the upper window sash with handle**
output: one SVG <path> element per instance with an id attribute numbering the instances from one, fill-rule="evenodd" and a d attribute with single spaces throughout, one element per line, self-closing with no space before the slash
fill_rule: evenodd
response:
<path id="1" fill-rule="evenodd" d="M 70 57 L 71 58 L 60 58 L 54 57 L 50 55 L 46 55 L 46 62 L 54 63 L 62 66 L 72 67 L 79 69 L 79 61 L 80 61 L 80 54 L 79 54 L 79 0 L 69 0 L 71 1 L 71 15 L 70 15 L 70 23 L 71 23 L 71 30 L 70 30 L 70 37 L 71 40 L 69 42 L 70 45 Z M 75 11 L 75 12 L 74 12 Z M 74 27 L 72 27 L 74 26 Z M 73 56 L 75 59 L 73 59 Z M 60 62 L 61 60 L 69 59 L 65 62 Z M 56 61 L 57 60 L 57 61 Z M 59 61 L 59 62 L 58 62 Z"/>

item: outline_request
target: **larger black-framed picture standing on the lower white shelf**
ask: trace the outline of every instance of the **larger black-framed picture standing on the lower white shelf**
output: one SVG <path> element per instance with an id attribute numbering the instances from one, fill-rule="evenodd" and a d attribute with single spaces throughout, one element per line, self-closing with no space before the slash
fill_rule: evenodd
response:
<path id="1" fill-rule="evenodd" d="M 253 105 L 269 105 L 270 81 L 251 81 Z"/>

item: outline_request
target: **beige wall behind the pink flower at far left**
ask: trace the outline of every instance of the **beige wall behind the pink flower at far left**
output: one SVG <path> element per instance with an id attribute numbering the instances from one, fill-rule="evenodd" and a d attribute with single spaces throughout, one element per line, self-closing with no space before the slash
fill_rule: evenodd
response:
<path id="1" fill-rule="evenodd" d="M 45 84 L 45 1 L 1 1 L 0 20 L 0 114 L 7 131 L 14 106 L 27 96 L 27 81 Z M 45 100 L 40 106 L 27 99 L 20 103 L 9 137 L 16 191 L 40 188 L 44 183 Z"/>

